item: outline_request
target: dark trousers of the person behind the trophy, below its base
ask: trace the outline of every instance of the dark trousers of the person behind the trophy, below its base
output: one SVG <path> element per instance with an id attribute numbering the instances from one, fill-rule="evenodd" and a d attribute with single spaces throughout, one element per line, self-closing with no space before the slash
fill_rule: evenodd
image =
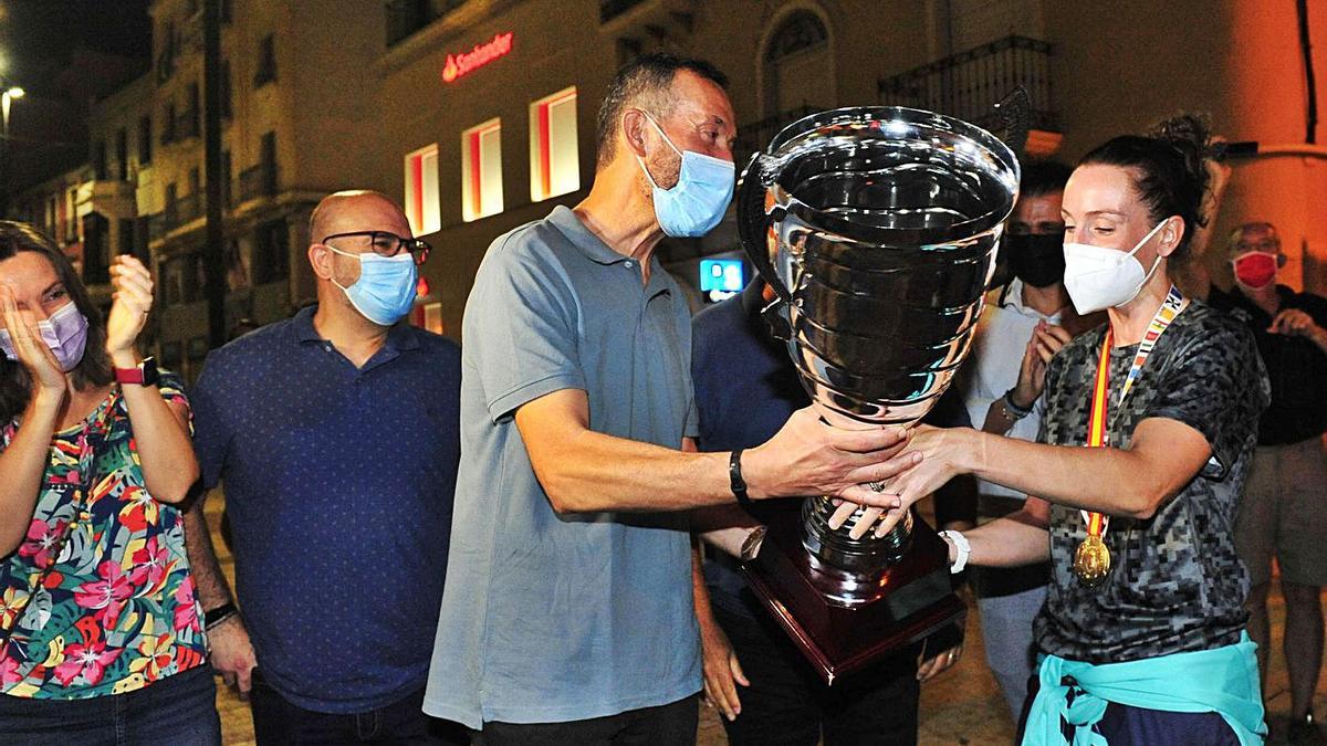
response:
<path id="1" fill-rule="evenodd" d="M 778 624 L 756 611 L 752 619 L 714 605 L 751 681 L 751 686 L 738 685 L 742 714 L 723 721 L 730 743 L 815 746 L 821 737 L 825 746 L 917 743 L 916 646 L 825 686 Z"/>

